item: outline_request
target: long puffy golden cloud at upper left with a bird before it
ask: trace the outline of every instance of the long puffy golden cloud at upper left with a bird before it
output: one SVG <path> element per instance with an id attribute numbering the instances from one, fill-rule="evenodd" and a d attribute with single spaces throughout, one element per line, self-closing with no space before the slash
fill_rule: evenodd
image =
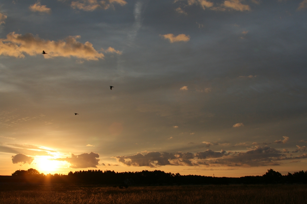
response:
<path id="1" fill-rule="evenodd" d="M 31 33 L 25 35 L 9 33 L 6 39 L 0 39 L 0 55 L 24 58 L 24 54 L 30 56 L 41 55 L 45 50 L 48 54 L 45 58 L 52 57 L 76 57 L 86 60 L 103 59 L 104 55 L 98 53 L 93 44 L 86 42 L 84 44 L 76 39 L 80 36 L 68 36 L 65 40 L 50 41 L 43 40 Z"/>

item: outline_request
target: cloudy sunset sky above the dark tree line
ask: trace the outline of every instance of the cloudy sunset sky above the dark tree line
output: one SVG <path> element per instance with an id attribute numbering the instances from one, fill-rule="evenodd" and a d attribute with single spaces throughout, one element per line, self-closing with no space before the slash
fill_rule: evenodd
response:
<path id="1" fill-rule="evenodd" d="M 306 33 L 307 0 L 2 0 L 0 175 L 306 171 Z"/>

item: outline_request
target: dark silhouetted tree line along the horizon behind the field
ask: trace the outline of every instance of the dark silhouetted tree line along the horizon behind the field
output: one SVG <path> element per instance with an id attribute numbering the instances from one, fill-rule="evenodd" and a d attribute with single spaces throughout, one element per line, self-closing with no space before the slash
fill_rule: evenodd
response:
<path id="1" fill-rule="evenodd" d="M 3 176 L 2 176 L 3 177 Z M 186 185 L 186 184 L 264 184 L 264 183 L 307 183 L 307 171 L 282 175 L 269 169 L 262 176 L 212 177 L 197 175 L 180 175 L 160 170 L 142 172 L 114 172 L 88 170 L 63 174 L 43 174 L 36 169 L 17 170 L 12 176 L 6 176 L 0 182 L 36 182 L 36 183 L 84 183 L 103 185 Z"/>

